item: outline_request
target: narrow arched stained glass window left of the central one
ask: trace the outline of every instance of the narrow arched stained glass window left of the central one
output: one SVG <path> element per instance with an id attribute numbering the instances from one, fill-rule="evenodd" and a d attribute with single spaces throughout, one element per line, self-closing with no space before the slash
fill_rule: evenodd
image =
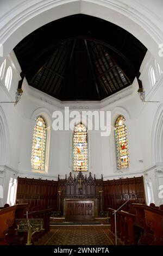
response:
<path id="1" fill-rule="evenodd" d="M 46 151 L 46 124 L 42 117 L 36 118 L 32 144 L 32 169 L 44 170 Z"/>

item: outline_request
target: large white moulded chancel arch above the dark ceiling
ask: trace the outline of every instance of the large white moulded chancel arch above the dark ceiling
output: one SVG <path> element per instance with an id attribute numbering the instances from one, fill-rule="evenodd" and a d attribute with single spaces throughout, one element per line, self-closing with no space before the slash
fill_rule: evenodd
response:
<path id="1" fill-rule="evenodd" d="M 143 2 L 134 2 L 133 5 L 133 1 L 128 1 L 126 4 L 120 0 L 108 2 L 98 0 L 98 3 L 95 0 L 66 2 L 45 0 L 30 3 L 29 7 L 28 1 L 22 0 L 19 4 L 16 1 L 12 7 L 8 5 L 6 8 L 5 5 L 5 9 L 2 8 L 0 12 L 2 13 L 0 24 L 3 26 L 0 27 L 3 57 L 7 56 L 18 42 L 35 29 L 61 17 L 82 13 L 108 20 L 126 29 L 148 48 L 163 68 L 163 59 L 158 54 L 158 45 L 163 41 L 163 33 L 158 28 L 158 19 L 161 20 L 160 6 L 154 1 L 149 5 L 147 9 Z M 155 10 L 154 13 L 153 10 Z"/>

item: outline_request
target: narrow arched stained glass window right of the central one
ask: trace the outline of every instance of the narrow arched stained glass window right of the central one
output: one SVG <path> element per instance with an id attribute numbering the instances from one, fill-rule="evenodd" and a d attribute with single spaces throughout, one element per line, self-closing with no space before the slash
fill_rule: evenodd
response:
<path id="1" fill-rule="evenodd" d="M 115 141 L 116 141 L 116 155 L 117 155 L 117 169 L 129 167 L 129 149 L 127 128 L 124 124 L 124 117 L 120 115 L 115 123 Z"/>

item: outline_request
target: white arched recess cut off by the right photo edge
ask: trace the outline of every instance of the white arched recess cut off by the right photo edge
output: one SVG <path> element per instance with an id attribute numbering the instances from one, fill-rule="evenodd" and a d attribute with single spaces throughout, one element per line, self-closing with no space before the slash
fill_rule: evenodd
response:
<path id="1" fill-rule="evenodd" d="M 152 127 L 152 161 L 163 162 L 163 104 L 158 107 Z"/>

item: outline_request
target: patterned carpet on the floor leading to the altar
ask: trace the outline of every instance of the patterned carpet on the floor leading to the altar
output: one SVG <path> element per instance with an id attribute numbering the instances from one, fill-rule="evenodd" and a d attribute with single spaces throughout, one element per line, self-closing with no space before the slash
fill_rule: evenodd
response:
<path id="1" fill-rule="evenodd" d="M 112 245 L 108 225 L 53 226 L 37 245 Z"/>

